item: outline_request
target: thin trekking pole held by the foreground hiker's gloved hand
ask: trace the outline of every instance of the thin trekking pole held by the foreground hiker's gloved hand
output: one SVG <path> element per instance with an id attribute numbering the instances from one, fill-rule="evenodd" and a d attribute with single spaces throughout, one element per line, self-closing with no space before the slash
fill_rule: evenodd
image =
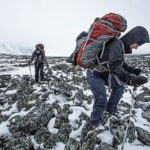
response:
<path id="1" fill-rule="evenodd" d="M 122 143 L 122 146 L 121 146 L 121 150 L 124 150 L 124 144 L 125 144 L 127 133 L 128 133 L 128 129 L 129 129 L 129 126 L 130 126 L 130 123 L 131 123 L 131 116 L 132 116 L 132 110 L 133 110 L 133 106 L 134 106 L 135 91 L 136 91 L 136 89 L 137 89 L 137 87 L 134 86 L 133 93 L 132 93 L 131 90 L 128 88 L 130 94 L 132 95 L 132 101 L 131 101 L 130 112 L 129 112 L 129 121 L 128 121 L 128 124 L 127 124 L 127 127 L 126 127 L 126 131 L 125 131 L 123 143 Z"/>

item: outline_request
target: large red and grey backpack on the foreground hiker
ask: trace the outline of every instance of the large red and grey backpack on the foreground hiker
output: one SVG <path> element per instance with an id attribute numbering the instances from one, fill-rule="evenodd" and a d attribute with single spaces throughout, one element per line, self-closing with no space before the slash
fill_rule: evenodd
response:
<path id="1" fill-rule="evenodd" d="M 83 68 L 97 66 L 107 42 L 119 37 L 126 28 L 127 21 L 119 14 L 109 13 L 102 18 L 96 18 L 88 31 L 88 36 L 84 40 L 81 39 L 76 52 L 76 63 Z"/>

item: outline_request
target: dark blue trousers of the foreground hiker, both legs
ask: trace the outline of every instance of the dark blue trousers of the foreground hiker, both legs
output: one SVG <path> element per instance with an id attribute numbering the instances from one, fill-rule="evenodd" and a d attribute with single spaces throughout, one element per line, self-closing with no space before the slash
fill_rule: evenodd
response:
<path id="1" fill-rule="evenodd" d="M 117 104 L 124 93 L 124 85 L 123 83 L 119 85 L 116 80 L 112 78 L 112 92 L 107 102 L 105 85 L 108 85 L 108 81 L 94 75 L 90 70 L 87 71 L 87 81 L 95 98 L 90 121 L 93 125 L 97 125 L 100 123 L 105 110 L 110 113 L 117 112 Z"/>

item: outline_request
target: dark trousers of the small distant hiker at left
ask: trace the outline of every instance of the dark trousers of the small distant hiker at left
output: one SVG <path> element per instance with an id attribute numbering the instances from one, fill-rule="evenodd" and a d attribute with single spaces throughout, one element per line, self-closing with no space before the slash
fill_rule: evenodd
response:
<path id="1" fill-rule="evenodd" d="M 35 63 L 35 82 L 39 82 L 40 80 L 44 80 L 44 63 Z"/>

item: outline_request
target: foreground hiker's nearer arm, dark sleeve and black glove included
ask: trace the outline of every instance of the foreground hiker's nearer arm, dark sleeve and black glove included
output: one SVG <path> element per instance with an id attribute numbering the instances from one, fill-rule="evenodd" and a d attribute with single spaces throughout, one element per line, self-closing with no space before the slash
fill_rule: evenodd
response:
<path id="1" fill-rule="evenodd" d="M 124 54 L 122 50 L 122 43 L 119 41 L 117 42 L 117 40 L 111 45 L 108 60 L 110 73 L 115 74 L 121 81 L 131 86 L 140 86 L 147 83 L 148 78 L 130 75 L 130 73 L 123 68 Z"/>

